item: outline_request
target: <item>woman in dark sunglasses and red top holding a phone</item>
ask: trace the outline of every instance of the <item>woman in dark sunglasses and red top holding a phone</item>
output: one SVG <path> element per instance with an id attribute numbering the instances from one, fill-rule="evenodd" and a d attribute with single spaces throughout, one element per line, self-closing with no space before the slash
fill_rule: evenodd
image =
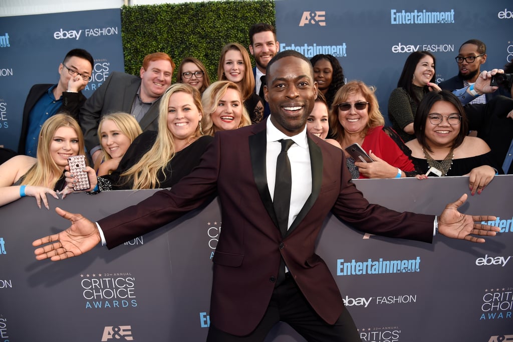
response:
<path id="1" fill-rule="evenodd" d="M 337 91 L 330 124 L 343 149 L 358 143 L 373 162 L 355 161 L 344 150 L 352 178 L 400 178 L 415 176 L 408 148 L 393 129 L 384 127 L 374 90 L 361 81 L 350 81 Z"/>

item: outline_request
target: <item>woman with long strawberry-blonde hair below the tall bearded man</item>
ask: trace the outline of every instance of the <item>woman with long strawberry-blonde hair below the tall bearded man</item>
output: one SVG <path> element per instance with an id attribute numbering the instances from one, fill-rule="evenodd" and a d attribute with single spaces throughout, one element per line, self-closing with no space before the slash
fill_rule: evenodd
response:
<path id="1" fill-rule="evenodd" d="M 254 93 L 255 80 L 251 69 L 249 53 L 241 44 L 229 43 L 221 50 L 218 65 L 218 80 L 235 83 L 242 94 L 244 106 L 248 110 L 251 123 L 264 118 L 262 99 Z"/>

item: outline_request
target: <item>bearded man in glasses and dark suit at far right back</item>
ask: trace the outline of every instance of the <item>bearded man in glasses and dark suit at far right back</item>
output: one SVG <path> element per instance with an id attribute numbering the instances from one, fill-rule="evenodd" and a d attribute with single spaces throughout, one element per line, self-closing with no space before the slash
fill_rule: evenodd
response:
<path id="1" fill-rule="evenodd" d="M 483 94 L 472 87 L 479 78 L 481 65 L 486 62 L 486 57 L 486 45 L 483 42 L 471 39 L 463 43 L 458 51 L 458 56 L 455 58 L 459 69 L 458 75 L 440 83 L 440 88 L 450 90 L 458 96 L 459 94 L 455 89 L 470 87 L 470 93 L 474 97 L 469 102 L 471 104 L 486 103 L 496 94 L 508 96 L 503 89 Z"/>

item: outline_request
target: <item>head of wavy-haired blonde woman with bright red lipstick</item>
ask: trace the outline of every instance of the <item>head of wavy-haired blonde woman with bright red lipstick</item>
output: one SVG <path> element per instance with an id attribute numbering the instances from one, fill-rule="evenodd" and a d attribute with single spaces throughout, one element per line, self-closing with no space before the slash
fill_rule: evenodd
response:
<path id="1" fill-rule="evenodd" d="M 202 127 L 205 135 L 216 131 L 237 129 L 251 124 L 239 87 L 230 81 L 212 83 L 203 93 L 201 103 L 205 115 Z"/>

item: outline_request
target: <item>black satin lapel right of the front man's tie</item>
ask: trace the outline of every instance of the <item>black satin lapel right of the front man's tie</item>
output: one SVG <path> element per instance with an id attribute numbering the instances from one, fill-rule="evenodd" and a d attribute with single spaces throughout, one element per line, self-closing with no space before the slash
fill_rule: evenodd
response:
<path id="1" fill-rule="evenodd" d="M 301 211 L 295 218 L 294 222 L 292 222 L 292 225 L 287 231 L 287 235 L 290 234 L 295 229 L 295 227 L 297 227 L 299 223 L 305 218 L 306 214 L 308 214 L 315 201 L 317 201 L 321 191 L 323 170 L 321 148 L 316 143 L 314 143 L 310 137 L 308 137 L 308 149 L 310 150 L 310 163 L 312 168 L 312 193 L 301 208 Z"/>

